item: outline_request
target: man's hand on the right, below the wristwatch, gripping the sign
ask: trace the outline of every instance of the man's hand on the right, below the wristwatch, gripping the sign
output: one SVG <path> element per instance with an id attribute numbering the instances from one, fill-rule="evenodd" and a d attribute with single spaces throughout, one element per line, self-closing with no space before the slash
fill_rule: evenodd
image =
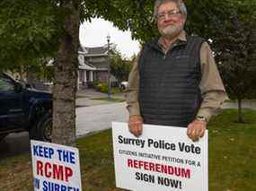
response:
<path id="1" fill-rule="evenodd" d="M 195 119 L 189 124 L 187 129 L 187 135 L 193 142 L 199 141 L 200 137 L 205 135 L 207 129 L 207 122 L 199 119 Z"/>

